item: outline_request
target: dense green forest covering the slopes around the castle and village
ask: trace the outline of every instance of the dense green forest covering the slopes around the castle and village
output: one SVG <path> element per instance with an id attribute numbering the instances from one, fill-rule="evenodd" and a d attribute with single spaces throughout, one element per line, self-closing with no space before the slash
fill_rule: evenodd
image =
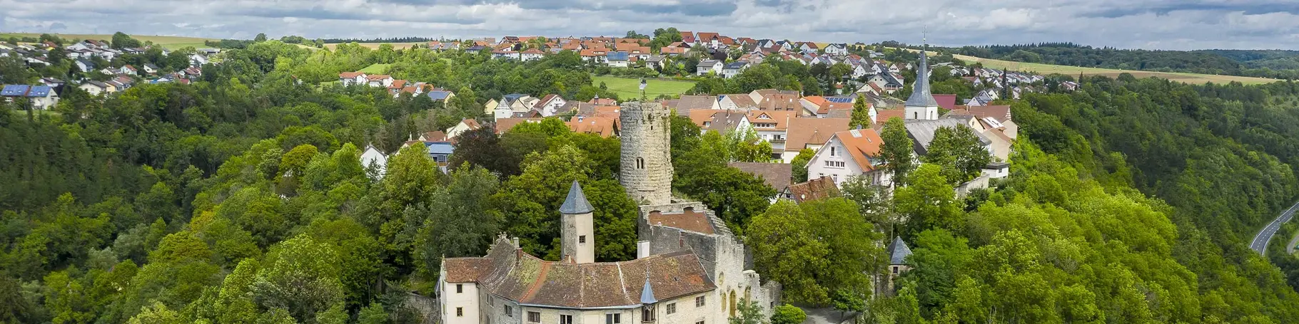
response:
<path id="1" fill-rule="evenodd" d="M 616 137 L 555 118 L 483 128 L 459 137 L 446 174 L 401 148 L 503 93 L 613 97 L 570 52 L 511 62 L 266 40 L 222 56 L 194 84 L 0 106 L 0 323 L 416 323 L 404 298 L 431 293 L 442 257 L 481 255 L 507 232 L 556 259 L 574 180 L 596 210 L 596 258 L 635 255 Z M 457 96 L 334 83 L 372 64 Z M 700 89 L 824 82 L 764 66 Z M 1299 197 L 1299 84 L 1082 83 L 1008 102 L 1012 174 L 964 198 L 952 185 L 968 175 L 930 157 L 899 166 L 892 196 L 857 179 L 839 197 L 769 203 L 772 188 L 726 163 L 770 146 L 685 117 L 672 121 L 673 189 L 717 211 L 788 302 L 869 310 L 868 323 L 1299 320 L 1299 260 L 1244 245 Z M 899 124 L 882 130 L 885 150 L 909 152 L 887 140 L 905 137 Z M 361 165 L 366 145 L 396 153 L 382 176 Z M 894 235 L 914 270 L 872 295 L 876 242 Z"/>

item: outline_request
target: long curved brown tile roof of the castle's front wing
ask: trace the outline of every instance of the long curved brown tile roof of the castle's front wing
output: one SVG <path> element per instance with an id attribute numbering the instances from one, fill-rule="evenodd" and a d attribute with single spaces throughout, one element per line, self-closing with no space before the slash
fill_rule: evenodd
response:
<path id="1" fill-rule="evenodd" d="M 703 264 L 691 251 L 656 254 L 626 262 L 568 263 L 542 260 L 520 253 L 500 237 L 487 257 L 477 262 L 447 259 L 447 277 L 465 279 L 477 273 L 487 292 L 526 305 L 565 308 L 639 306 L 640 293 L 650 281 L 655 299 L 665 301 L 717 289 Z M 455 268 L 452 268 L 455 267 Z"/>

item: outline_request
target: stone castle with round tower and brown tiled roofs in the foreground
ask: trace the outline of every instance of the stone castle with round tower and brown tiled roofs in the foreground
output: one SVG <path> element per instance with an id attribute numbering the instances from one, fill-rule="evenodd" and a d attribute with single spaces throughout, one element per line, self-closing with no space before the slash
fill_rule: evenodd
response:
<path id="1" fill-rule="evenodd" d="M 761 283 L 739 237 L 703 203 L 672 198 L 670 110 L 627 102 L 620 118 L 618 180 L 640 203 L 637 259 L 595 262 L 595 209 L 574 181 L 560 206 L 561 260 L 504 235 L 486 257 L 444 259 L 443 323 L 724 324 L 743 301 L 770 315 L 779 285 Z"/>

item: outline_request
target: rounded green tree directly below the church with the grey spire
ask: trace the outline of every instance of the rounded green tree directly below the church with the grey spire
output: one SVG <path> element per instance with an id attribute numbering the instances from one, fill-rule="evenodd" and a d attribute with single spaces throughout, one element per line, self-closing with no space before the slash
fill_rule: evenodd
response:
<path id="1" fill-rule="evenodd" d="M 942 166 L 942 174 L 951 184 L 961 184 L 977 178 L 992 157 L 973 130 L 957 126 L 934 131 L 934 140 L 921 159 Z"/>

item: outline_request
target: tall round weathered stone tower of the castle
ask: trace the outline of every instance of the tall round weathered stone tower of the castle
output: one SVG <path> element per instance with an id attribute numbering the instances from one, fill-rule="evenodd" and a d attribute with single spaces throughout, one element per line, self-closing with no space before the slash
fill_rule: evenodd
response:
<path id="1" fill-rule="evenodd" d="M 625 102 L 618 181 L 639 205 L 672 203 L 670 111 L 657 102 Z"/>

